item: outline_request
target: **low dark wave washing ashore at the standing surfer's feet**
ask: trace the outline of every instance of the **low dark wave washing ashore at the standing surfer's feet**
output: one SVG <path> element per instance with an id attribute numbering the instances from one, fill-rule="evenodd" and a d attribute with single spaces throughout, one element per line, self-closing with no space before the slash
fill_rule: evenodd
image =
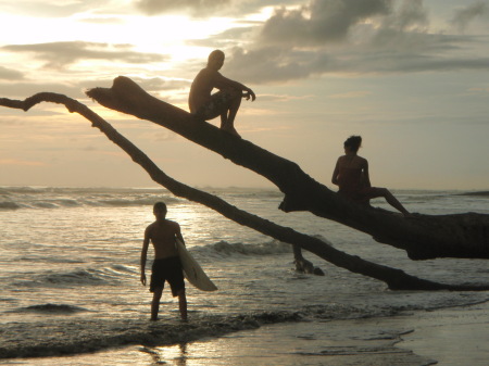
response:
<path id="1" fill-rule="evenodd" d="M 411 310 L 415 308 L 416 306 Z M 5 325 L 4 342 L 0 344 L 0 358 L 91 353 L 130 344 L 142 348 L 181 344 L 256 329 L 264 325 L 311 321 L 314 318 L 328 321 L 383 317 L 402 314 L 406 310 L 391 308 L 388 313 L 381 311 L 369 313 L 362 306 L 355 308 L 331 303 L 305 306 L 300 311 L 265 311 L 237 315 L 211 315 L 202 312 L 192 314 L 188 323 L 181 323 L 177 318 L 165 318 L 154 323 L 147 318 L 76 317 L 36 323 L 35 329 L 29 323 L 11 323 Z M 70 315 L 89 311 L 64 304 L 42 304 L 20 308 L 17 312 Z"/>

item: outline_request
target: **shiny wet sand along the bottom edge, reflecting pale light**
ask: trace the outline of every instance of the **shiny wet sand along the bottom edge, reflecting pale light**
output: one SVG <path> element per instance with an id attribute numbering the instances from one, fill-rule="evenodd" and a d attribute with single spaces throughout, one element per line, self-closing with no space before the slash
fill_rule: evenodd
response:
<path id="1" fill-rule="evenodd" d="M 402 316 L 265 325 L 220 338 L 106 350 L 3 365 L 376 365 L 484 366 L 489 303 Z"/>

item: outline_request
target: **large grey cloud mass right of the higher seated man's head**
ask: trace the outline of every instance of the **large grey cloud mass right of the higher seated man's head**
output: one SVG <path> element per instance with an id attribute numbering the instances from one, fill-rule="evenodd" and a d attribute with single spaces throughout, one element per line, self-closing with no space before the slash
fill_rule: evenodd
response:
<path id="1" fill-rule="evenodd" d="M 484 37 L 434 33 L 422 0 L 311 0 L 278 9 L 253 43 L 228 50 L 223 73 L 269 84 L 324 74 L 489 71 Z"/>

